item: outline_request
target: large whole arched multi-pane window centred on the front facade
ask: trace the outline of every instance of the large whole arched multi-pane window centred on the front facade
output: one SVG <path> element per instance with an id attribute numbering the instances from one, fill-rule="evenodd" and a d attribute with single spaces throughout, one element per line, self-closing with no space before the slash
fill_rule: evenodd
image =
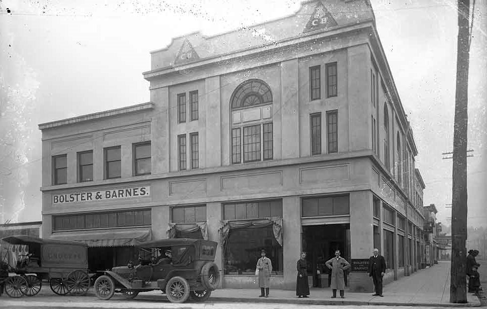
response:
<path id="1" fill-rule="evenodd" d="M 234 90 L 230 108 L 232 164 L 272 160 L 271 88 L 258 79 L 245 81 Z"/>

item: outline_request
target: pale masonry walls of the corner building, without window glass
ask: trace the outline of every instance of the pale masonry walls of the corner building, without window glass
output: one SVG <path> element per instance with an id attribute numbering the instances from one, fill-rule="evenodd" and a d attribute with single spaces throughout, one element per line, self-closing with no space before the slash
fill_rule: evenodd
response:
<path id="1" fill-rule="evenodd" d="M 358 13 L 341 13 L 347 11 Z M 96 247 L 120 246 L 117 238 L 166 238 L 175 223 L 174 208 L 206 205 L 208 238 L 220 244 L 216 262 L 224 268 L 220 237 L 224 204 L 279 199 L 282 269 L 271 278 L 272 287 L 294 288 L 296 259 L 309 249 L 303 248 L 302 237 L 309 226 L 344 226 L 341 246 L 351 260 L 367 259 L 377 241 L 381 252 L 388 250 L 390 255 L 386 282 L 419 268 L 417 242 L 424 219 L 414 201 L 417 149 L 368 1 L 304 2 L 295 14 L 265 24 L 214 37 L 193 33 L 175 38 L 151 56 L 151 71 L 143 73 L 150 82 L 150 102 L 40 125 L 44 237 L 77 239 Z M 327 64 L 335 64 L 335 71 Z M 312 99 L 310 70 L 318 65 L 315 88 L 321 95 Z M 272 100 L 233 108 L 236 89 L 249 80 L 267 85 Z M 196 97 L 197 112 L 192 115 Z M 336 115 L 333 123 L 328 122 L 330 112 Z M 320 115 L 317 131 L 311 115 Z M 270 158 L 259 152 L 260 159 L 235 164 L 233 129 L 244 132 L 254 125 L 264 130 L 260 126 L 264 123 L 272 123 Z M 192 133 L 198 133 L 196 152 L 189 148 Z M 184 152 L 179 136 L 188 143 Z M 260 139 L 264 136 L 259 136 L 259 143 Z M 150 174 L 135 176 L 134 147 L 146 142 L 151 145 Z M 120 177 L 113 179 L 106 177 L 110 147 L 120 147 Z M 79 154 L 85 151 L 93 151 L 93 179 L 80 182 Z M 65 183 L 54 185 L 57 155 L 66 155 L 67 176 Z M 56 173 L 64 173 L 60 164 Z M 132 194 L 142 187 L 147 194 Z M 124 193 L 126 189 L 132 193 Z M 116 198 L 110 194 L 103 198 L 104 192 L 114 190 Z M 69 198 L 83 192 L 101 195 L 53 202 L 56 195 Z M 348 213 L 304 215 L 305 198 L 337 195 L 348 197 Z M 64 224 L 62 216 L 137 210 L 151 211 L 150 224 L 141 219 L 141 224 L 116 229 L 89 228 L 86 223 L 54 228 Z M 392 235 L 387 238 L 392 251 L 386 248 L 385 231 Z M 407 241 L 398 247 L 399 235 L 407 239 L 409 234 L 415 241 L 414 253 Z M 312 268 L 318 270 L 314 264 Z M 316 282 L 322 278 L 318 272 L 313 274 Z M 225 274 L 222 285 L 254 287 L 255 276 Z M 371 291 L 369 277 L 358 269 L 349 273 L 348 286 Z"/>

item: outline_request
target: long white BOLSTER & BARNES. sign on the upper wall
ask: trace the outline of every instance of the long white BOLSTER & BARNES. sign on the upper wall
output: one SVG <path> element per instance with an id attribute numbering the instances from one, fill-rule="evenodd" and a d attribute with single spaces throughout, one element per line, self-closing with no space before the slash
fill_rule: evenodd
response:
<path id="1" fill-rule="evenodd" d="M 53 204 L 80 203 L 106 199 L 146 197 L 151 195 L 151 186 L 117 188 L 100 191 L 53 194 Z"/>

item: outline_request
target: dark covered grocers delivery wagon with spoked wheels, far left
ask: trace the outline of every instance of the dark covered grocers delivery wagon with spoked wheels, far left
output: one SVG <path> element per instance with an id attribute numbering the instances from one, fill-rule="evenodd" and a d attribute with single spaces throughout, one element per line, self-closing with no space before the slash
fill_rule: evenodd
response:
<path id="1" fill-rule="evenodd" d="M 9 277 L 3 279 L 10 297 L 33 296 L 41 291 L 42 282 L 49 281 L 58 295 L 83 295 L 88 291 L 88 246 L 78 242 L 42 239 L 27 235 L 2 238 L 10 248 L 22 246 L 24 254 L 16 255 Z M 18 258 L 18 260 L 17 260 Z M 2 279 L 0 279 L 2 280 Z"/>

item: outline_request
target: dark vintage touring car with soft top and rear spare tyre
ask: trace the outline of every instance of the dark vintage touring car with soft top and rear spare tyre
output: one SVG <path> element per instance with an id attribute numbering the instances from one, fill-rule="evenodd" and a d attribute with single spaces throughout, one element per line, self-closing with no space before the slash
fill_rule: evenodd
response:
<path id="1" fill-rule="evenodd" d="M 110 299 L 120 292 L 134 298 L 139 292 L 162 290 L 171 302 L 181 303 L 189 297 L 205 301 L 218 287 L 220 273 L 214 263 L 217 243 L 203 239 L 171 238 L 140 244 L 151 252 L 151 260 L 139 257 L 139 265 L 113 267 L 102 271 L 93 286 L 99 299 Z M 170 249 L 169 249 L 170 248 Z M 162 258 L 165 249 L 172 257 Z"/>

